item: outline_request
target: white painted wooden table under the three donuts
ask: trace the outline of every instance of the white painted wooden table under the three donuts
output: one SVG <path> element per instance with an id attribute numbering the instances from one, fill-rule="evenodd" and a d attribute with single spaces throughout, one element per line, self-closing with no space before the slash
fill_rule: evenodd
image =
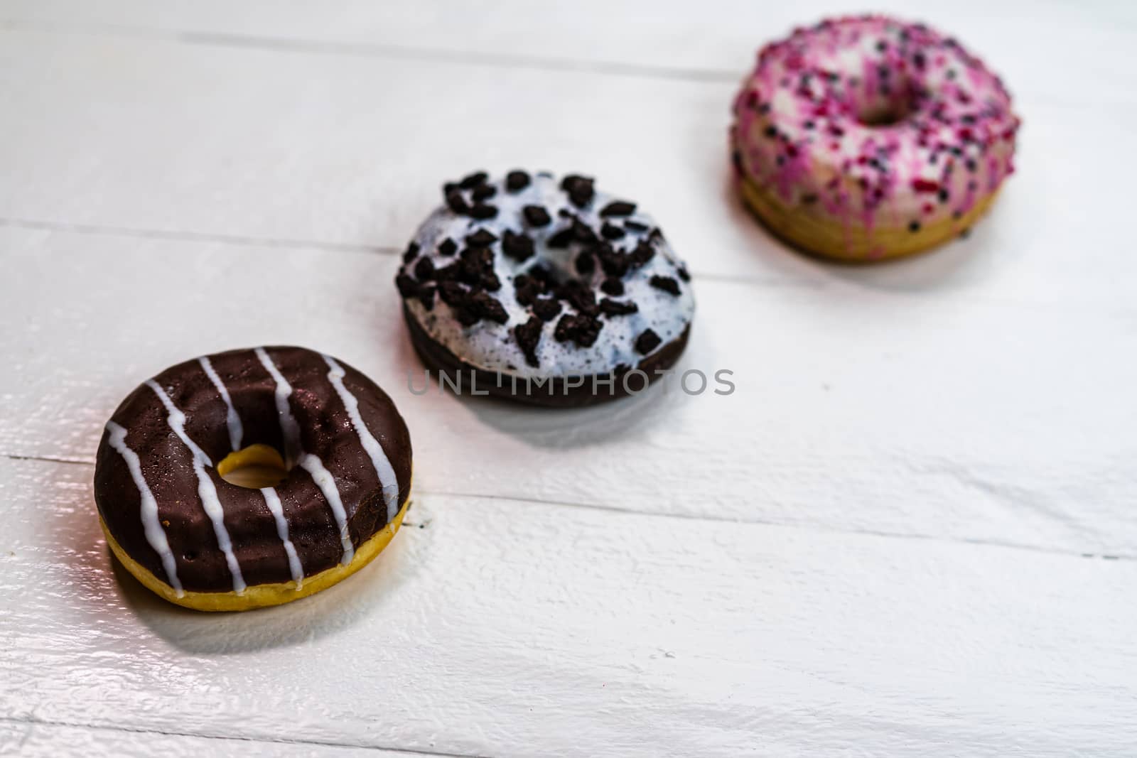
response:
<path id="1" fill-rule="evenodd" d="M 848 268 L 739 209 L 725 128 L 763 41 L 857 3 L 0 0 L 0 753 L 1137 755 L 1137 9 L 875 5 L 1024 126 L 968 240 Z M 405 391 L 392 253 L 515 166 L 661 219 L 681 368 L 733 395 Z M 410 528 L 185 611 L 113 565 L 93 453 L 258 343 L 391 390 Z"/>

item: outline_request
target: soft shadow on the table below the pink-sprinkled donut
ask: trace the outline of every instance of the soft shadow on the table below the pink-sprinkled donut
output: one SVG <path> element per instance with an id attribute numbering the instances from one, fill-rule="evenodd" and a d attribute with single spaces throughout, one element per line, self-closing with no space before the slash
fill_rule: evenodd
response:
<path id="1" fill-rule="evenodd" d="M 731 208 L 731 217 L 740 224 L 749 224 L 761 234 L 762 243 L 756 245 L 763 255 L 777 255 L 782 260 L 773 260 L 786 266 L 785 259 L 794 258 L 797 276 L 810 278 L 833 278 L 868 289 L 891 292 L 927 292 L 951 290 L 963 286 L 988 272 L 1002 249 L 996 242 L 997 217 L 1005 214 L 1007 203 L 1001 197 L 991 210 L 979 219 L 974 228 L 941 244 L 899 258 L 882 260 L 839 260 L 827 258 L 787 240 L 771 228 L 741 198 L 732 170 L 725 173 L 721 184 L 723 199 Z M 1007 193 L 1002 193 L 1007 194 Z M 785 251 L 795 253 L 785 256 Z"/>

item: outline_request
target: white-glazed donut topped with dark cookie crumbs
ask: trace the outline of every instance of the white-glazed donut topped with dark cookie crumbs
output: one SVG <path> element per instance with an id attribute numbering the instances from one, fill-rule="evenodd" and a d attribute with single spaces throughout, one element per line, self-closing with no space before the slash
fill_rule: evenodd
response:
<path id="1" fill-rule="evenodd" d="M 690 276 L 634 202 L 586 176 L 523 170 L 478 172 L 442 197 L 396 277 L 428 370 L 471 394 L 586 406 L 679 359 Z"/>

